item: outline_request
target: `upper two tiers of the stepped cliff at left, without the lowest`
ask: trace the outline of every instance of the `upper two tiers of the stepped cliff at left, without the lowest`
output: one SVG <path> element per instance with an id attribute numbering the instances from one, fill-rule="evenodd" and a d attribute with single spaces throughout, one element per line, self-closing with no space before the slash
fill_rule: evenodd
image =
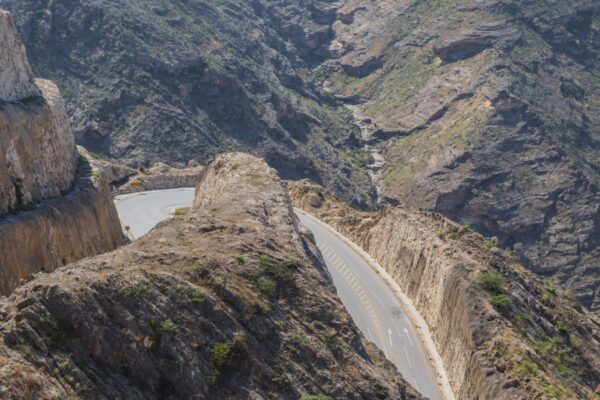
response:
<path id="1" fill-rule="evenodd" d="M 56 86 L 33 78 L 10 15 L 0 12 L 0 215 L 59 196 L 78 154 Z"/>

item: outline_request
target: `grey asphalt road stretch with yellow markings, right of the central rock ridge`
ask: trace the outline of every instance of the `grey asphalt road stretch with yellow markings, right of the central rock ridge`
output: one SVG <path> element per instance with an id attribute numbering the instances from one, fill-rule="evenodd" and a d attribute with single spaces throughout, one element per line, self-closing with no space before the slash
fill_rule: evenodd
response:
<path id="1" fill-rule="evenodd" d="M 441 399 L 421 341 L 392 289 L 362 255 L 318 219 L 298 217 L 315 235 L 338 295 L 358 328 L 423 396 Z"/>

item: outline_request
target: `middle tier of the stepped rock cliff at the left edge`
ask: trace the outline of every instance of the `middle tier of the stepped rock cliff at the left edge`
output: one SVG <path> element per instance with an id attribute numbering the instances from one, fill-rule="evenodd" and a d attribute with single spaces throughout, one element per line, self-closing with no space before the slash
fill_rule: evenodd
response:
<path id="1" fill-rule="evenodd" d="M 79 155 L 62 98 L 38 80 L 42 97 L 5 102 L 0 110 L 0 215 L 71 190 Z"/>

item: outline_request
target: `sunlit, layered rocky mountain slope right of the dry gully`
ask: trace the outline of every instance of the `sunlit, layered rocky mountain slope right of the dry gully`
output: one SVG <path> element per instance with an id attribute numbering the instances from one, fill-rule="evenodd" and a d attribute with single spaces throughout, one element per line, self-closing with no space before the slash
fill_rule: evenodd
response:
<path id="1" fill-rule="evenodd" d="M 497 236 L 600 307 L 600 3 L 348 0 L 323 67 L 383 196 Z"/>

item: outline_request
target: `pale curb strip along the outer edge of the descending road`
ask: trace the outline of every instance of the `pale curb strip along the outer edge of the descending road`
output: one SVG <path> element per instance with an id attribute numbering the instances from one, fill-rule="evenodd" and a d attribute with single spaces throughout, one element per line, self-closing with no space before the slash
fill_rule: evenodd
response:
<path id="1" fill-rule="evenodd" d="M 339 238 L 340 240 L 345 242 L 347 245 L 352 247 L 358 254 L 363 256 L 365 258 L 365 260 L 367 261 L 367 263 L 371 266 L 371 268 L 373 268 L 377 273 L 379 273 L 379 275 L 386 281 L 386 283 L 388 285 L 390 285 L 390 287 L 394 291 L 394 294 L 396 295 L 396 298 L 400 301 L 400 304 L 402 304 L 402 306 L 406 312 L 406 315 L 409 317 L 410 321 L 417 328 L 417 334 L 419 335 L 419 338 L 421 339 L 421 343 L 423 344 L 423 347 L 425 348 L 425 351 L 427 352 L 427 355 L 429 356 L 430 361 L 433 363 L 433 369 L 435 371 L 435 375 L 436 375 L 437 381 L 438 381 L 437 382 L 438 387 L 442 392 L 441 393 L 442 396 L 446 400 L 455 400 L 454 392 L 452 391 L 452 386 L 450 385 L 450 380 L 448 379 L 448 375 L 446 374 L 446 370 L 444 369 L 444 363 L 442 361 L 442 357 L 438 353 L 437 347 L 435 346 L 435 343 L 431 336 L 431 331 L 429 330 L 429 325 L 427 325 L 427 322 L 425 322 L 425 319 L 423 319 L 423 316 L 421 315 L 421 313 L 419 313 L 419 311 L 413 304 L 410 297 L 408 297 L 402 291 L 402 289 L 400 288 L 398 283 L 390 276 L 390 274 L 388 274 L 388 272 L 385 269 L 383 269 L 381 267 L 381 265 L 379 265 L 379 263 L 373 259 L 373 257 L 371 257 L 366 251 L 364 251 L 356 243 L 354 243 L 353 241 L 351 241 L 344 235 L 340 234 L 337 230 L 335 230 L 335 228 L 333 228 L 328 223 L 321 221 L 320 219 L 312 216 L 311 214 L 307 213 L 306 211 L 301 210 L 296 207 L 294 207 L 294 211 L 322 224 L 327 230 L 329 230 L 329 232 L 331 232 L 337 238 Z"/>

